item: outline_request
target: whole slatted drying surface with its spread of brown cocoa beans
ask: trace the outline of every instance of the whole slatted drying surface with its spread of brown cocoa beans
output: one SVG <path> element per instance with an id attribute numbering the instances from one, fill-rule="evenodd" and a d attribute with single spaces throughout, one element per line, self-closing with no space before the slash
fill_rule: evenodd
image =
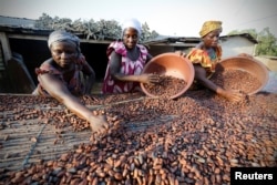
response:
<path id="1" fill-rule="evenodd" d="M 80 99 L 116 116 L 106 135 L 53 99 L 0 95 L 0 184 L 229 184 L 230 167 L 277 166 L 275 93 Z"/>

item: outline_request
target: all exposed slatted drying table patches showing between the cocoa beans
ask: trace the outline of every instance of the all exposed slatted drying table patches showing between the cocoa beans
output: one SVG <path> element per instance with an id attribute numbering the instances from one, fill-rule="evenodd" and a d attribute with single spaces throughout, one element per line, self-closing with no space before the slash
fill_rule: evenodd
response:
<path id="1" fill-rule="evenodd" d="M 11 95 L 11 94 L 0 94 Z M 30 96 L 28 94 L 12 94 L 17 96 Z M 114 104 L 122 104 L 130 101 L 140 101 L 144 97 L 120 101 L 109 105 L 88 105 L 91 110 L 101 109 Z M 53 106 L 51 103 L 34 104 L 18 103 L 19 107 L 40 109 L 40 110 L 65 110 L 64 106 Z M 29 114 L 25 111 L 23 114 Z M 24 120 L 7 121 L 9 117 L 19 116 L 16 111 L 0 112 L 0 169 L 18 171 L 24 168 L 32 163 L 40 161 L 57 160 L 61 154 L 74 150 L 82 143 L 89 143 L 91 131 L 73 131 L 71 126 L 59 129 L 55 124 L 47 123 L 49 120 L 39 117 L 29 117 Z M 21 113 L 22 114 L 22 113 Z M 71 113 L 72 115 L 72 113 Z M 162 115 L 152 121 L 131 122 L 130 130 L 143 130 L 153 123 L 165 123 L 173 120 L 175 115 Z M 12 119 L 11 119 L 12 120 Z"/>

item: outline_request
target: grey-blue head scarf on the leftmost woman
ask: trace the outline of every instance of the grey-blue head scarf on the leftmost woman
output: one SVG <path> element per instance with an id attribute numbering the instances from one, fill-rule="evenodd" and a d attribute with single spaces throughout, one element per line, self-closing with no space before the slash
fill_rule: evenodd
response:
<path id="1" fill-rule="evenodd" d="M 75 44 L 78 53 L 81 52 L 79 38 L 76 35 L 74 35 L 74 34 L 70 33 L 70 32 L 64 31 L 64 30 L 55 30 L 55 31 L 53 31 L 49 35 L 48 47 L 50 48 L 52 43 L 61 42 L 61 41 L 63 41 L 63 42 L 65 41 L 65 42 L 70 42 L 70 43 Z"/>

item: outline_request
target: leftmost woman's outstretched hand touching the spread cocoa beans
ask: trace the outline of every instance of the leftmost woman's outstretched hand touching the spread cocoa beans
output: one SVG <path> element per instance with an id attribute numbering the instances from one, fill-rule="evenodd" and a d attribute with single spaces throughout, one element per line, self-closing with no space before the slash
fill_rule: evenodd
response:
<path id="1" fill-rule="evenodd" d="M 105 133 L 109 130 L 109 123 L 104 115 L 91 115 L 88 121 L 93 133 Z"/>

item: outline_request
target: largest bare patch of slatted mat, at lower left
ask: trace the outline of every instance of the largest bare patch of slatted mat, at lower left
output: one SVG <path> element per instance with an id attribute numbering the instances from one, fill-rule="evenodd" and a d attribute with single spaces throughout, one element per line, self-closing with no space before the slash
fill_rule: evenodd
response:
<path id="1" fill-rule="evenodd" d="M 91 131 L 74 132 L 65 127 L 60 134 L 52 124 L 29 120 L 25 124 L 14 121 L 1 130 L 0 168 L 18 171 L 40 160 L 55 160 L 81 143 L 89 143 Z M 33 140 L 35 138 L 37 142 Z"/>

